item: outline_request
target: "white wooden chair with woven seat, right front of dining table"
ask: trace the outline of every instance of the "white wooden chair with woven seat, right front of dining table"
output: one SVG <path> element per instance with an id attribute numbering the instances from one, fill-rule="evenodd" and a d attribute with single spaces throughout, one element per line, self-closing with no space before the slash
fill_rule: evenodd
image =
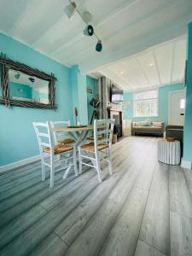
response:
<path id="1" fill-rule="evenodd" d="M 82 173 L 82 165 L 96 169 L 99 182 L 102 182 L 102 161 L 108 162 L 110 175 L 112 169 L 112 137 L 114 119 L 100 119 L 94 121 L 94 143 L 86 143 L 79 147 L 79 173 Z M 91 163 L 83 160 L 91 160 Z"/>

